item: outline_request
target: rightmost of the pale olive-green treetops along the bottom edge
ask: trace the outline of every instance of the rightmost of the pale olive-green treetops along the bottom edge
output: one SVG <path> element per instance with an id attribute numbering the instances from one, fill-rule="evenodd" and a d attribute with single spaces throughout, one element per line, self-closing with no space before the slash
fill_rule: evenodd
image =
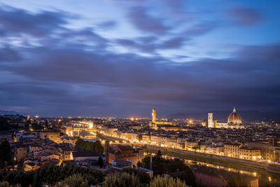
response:
<path id="1" fill-rule="evenodd" d="M 179 178 L 158 175 L 150 182 L 150 187 L 186 187 L 186 183 Z"/>

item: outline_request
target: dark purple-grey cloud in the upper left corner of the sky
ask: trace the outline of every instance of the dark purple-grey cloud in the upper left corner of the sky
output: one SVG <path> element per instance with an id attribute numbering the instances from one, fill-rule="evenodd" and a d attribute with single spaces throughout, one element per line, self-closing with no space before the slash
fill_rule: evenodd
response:
<path id="1" fill-rule="evenodd" d="M 41 11 L 30 13 L 28 11 L 10 6 L 0 7 L 0 26 L 5 28 L 5 34 L 30 34 L 42 37 L 51 34 L 55 30 L 64 29 L 69 19 L 76 16 L 59 11 Z"/>

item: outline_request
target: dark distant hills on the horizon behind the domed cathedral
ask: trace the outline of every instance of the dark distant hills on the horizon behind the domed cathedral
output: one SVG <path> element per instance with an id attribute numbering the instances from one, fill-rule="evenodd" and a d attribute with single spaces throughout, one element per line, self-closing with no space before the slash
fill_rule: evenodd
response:
<path id="1" fill-rule="evenodd" d="M 204 120 L 207 118 L 208 113 L 213 113 L 213 118 L 220 121 L 227 121 L 228 116 L 232 113 L 232 110 L 226 111 L 208 111 L 208 112 L 199 112 L 199 113 L 174 113 L 166 116 L 166 118 L 193 118 Z M 260 111 L 237 111 L 241 116 L 242 120 L 280 120 L 280 111 L 275 112 L 260 112 Z"/>

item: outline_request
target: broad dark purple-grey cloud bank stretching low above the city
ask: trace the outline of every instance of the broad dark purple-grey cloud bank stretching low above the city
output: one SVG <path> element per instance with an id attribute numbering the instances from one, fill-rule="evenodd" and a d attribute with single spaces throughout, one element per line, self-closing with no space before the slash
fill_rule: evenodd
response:
<path id="1" fill-rule="evenodd" d="M 36 103 L 51 102 L 53 106 L 47 108 L 84 106 L 80 110 L 90 107 L 106 113 L 109 107 L 116 114 L 137 105 L 168 106 L 172 111 L 214 109 L 217 102 L 222 109 L 235 105 L 242 109 L 249 106 L 272 110 L 280 106 L 280 102 L 275 102 L 280 99 L 278 44 L 240 46 L 232 59 L 201 59 L 181 64 L 162 57 L 89 51 L 76 48 L 75 43 L 71 45 L 63 49 L 28 49 L 25 53 L 33 54 L 31 59 L 13 66 L 1 64 L 0 69 L 26 81 L 25 85 L 14 87 L 20 92 L 11 90 L 10 83 L 2 83 L 2 97 L 18 98 L 17 106 L 25 106 L 25 99 L 34 95 L 33 107 L 38 107 Z M 258 54 L 264 57 L 256 60 Z M 31 107 L 30 100 L 26 101 Z M 65 107 L 64 110 L 72 112 Z"/>

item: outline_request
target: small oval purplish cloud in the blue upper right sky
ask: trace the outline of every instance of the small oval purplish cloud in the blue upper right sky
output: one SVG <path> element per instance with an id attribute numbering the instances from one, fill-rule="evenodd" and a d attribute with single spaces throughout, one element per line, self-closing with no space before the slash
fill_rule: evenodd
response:
<path id="1" fill-rule="evenodd" d="M 253 27 L 265 22 L 265 17 L 262 15 L 262 12 L 254 8 L 232 8 L 227 15 L 232 18 L 237 25 L 246 27 Z"/>

